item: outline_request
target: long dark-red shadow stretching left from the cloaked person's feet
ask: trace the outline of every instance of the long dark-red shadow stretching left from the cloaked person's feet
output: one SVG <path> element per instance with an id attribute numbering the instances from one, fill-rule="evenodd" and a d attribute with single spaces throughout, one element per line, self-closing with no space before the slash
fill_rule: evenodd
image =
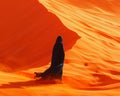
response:
<path id="1" fill-rule="evenodd" d="M 56 81 L 44 81 L 44 80 L 31 80 L 26 82 L 9 82 L 9 84 L 2 84 L 0 88 L 23 88 L 23 87 L 34 87 L 34 86 L 48 86 L 57 84 Z"/>

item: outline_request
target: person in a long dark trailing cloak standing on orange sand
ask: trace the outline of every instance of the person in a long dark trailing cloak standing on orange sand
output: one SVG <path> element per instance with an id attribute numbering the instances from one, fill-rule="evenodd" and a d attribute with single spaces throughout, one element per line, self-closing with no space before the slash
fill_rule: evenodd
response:
<path id="1" fill-rule="evenodd" d="M 62 37 L 58 36 L 52 51 L 51 66 L 43 73 L 35 72 L 35 77 L 42 77 L 42 79 L 51 78 L 62 80 L 64 57 L 65 53 L 62 44 Z"/>

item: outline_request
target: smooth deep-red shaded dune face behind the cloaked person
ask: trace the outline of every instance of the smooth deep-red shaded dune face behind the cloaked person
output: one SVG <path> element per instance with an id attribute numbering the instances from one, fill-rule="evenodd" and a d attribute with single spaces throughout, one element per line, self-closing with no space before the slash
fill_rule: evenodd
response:
<path id="1" fill-rule="evenodd" d="M 58 35 L 63 36 L 65 50 L 79 39 L 37 0 L 2 0 L 0 12 L 2 71 L 48 64 Z"/>

